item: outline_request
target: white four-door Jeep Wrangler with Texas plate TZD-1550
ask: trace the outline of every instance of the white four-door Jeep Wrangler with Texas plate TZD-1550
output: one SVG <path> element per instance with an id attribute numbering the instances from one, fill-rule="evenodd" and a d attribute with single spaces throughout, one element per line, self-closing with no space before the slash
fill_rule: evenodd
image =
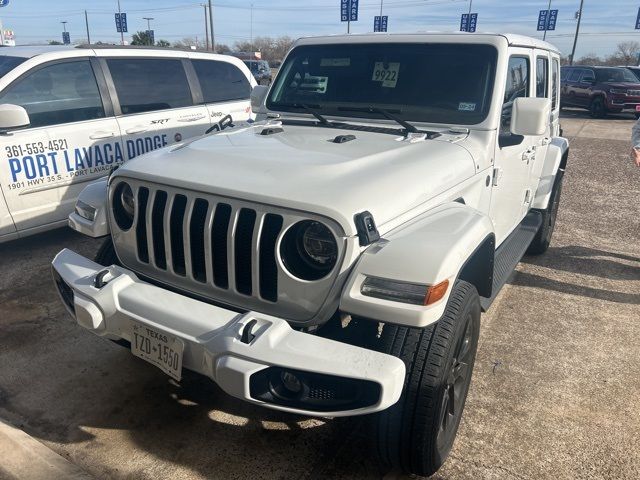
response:
<path id="1" fill-rule="evenodd" d="M 549 246 L 568 143 L 559 54 L 515 35 L 298 41 L 255 123 L 136 158 L 53 275 L 84 328 L 180 379 L 314 416 L 367 414 L 428 475 L 456 435 L 480 313 Z"/>

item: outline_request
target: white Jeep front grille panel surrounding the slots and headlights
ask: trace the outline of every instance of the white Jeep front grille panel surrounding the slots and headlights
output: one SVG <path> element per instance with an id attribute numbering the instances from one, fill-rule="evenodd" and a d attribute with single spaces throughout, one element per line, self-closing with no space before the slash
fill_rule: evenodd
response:
<path id="1" fill-rule="evenodd" d="M 234 198 L 124 180 L 136 199 L 133 225 L 111 233 L 122 264 L 142 276 L 237 308 L 320 320 L 346 254 L 347 239 L 327 218 Z M 110 204 L 114 188 L 110 188 Z M 327 277 L 308 282 L 286 271 L 278 255 L 280 240 L 292 225 L 323 222 L 338 239 L 337 266 Z M 340 277 L 340 280 L 344 280 Z M 321 309 L 326 307 L 326 311 Z M 333 306 L 335 311 L 335 305 Z M 326 318 L 325 318 L 326 320 Z"/>

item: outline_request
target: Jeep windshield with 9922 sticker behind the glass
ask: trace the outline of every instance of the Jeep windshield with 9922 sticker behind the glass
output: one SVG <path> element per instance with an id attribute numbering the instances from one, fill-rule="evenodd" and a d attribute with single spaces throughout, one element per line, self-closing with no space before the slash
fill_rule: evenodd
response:
<path id="1" fill-rule="evenodd" d="M 365 43 L 296 47 L 267 108 L 322 115 L 472 125 L 489 111 L 497 51 L 490 45 Z M 348 107 L 348 108 L 347 108 Z M 361 109 L 360 112 L 353 111 Z"/>

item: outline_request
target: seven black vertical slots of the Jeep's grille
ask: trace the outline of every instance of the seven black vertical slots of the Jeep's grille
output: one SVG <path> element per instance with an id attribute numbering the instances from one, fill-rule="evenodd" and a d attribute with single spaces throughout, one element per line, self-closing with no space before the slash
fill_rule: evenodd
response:
<path id="1" fill-rule="evenodd" d="M 135 229 L 140 262 L 149 264 L 153 259 L 160 270 L 225 290 L 231 279 L 238 293 L 259 293 L 265 300 L 277 300 L 275 246 L 282 216 L 267 213 L 258 217 L 251 208 L 234 209 L 222 201 L 188 199 L 183 194 L 169 196 L 161 189 L 153 193 L 150 203 L 149 188 L 138 189 Z M 252 281 L 256 264 L 258 292 Z"/>

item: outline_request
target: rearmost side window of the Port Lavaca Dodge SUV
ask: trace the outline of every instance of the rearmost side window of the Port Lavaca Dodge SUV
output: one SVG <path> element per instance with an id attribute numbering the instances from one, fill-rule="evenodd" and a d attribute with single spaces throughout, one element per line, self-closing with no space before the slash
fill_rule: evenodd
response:
<path id="1" fill-rule="evenodd" d="M 205 103 L 248 100 L 251 85 L 244 73 L 229 62 L 192 60 Z"/>

